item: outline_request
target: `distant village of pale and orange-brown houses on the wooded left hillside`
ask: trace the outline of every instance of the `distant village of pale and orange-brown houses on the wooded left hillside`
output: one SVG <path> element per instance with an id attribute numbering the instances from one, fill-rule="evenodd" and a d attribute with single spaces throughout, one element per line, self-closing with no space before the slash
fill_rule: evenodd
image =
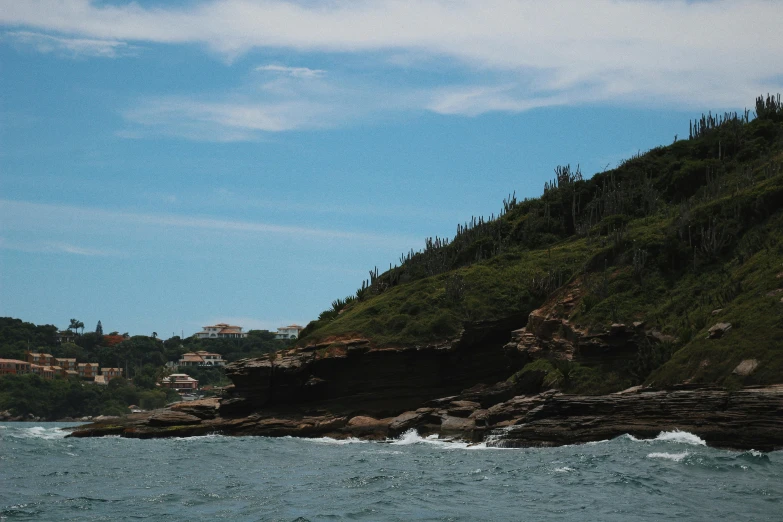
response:
<path id="1" fill-rule="evenodd" d="M 75 323 L 78 327 L 83 323 Z M 74 326 L 72 321 L 71 327 Z M 98 330 L 101 329 L 100 321 Z M 277 329 L 275 339 L 292 340 L 297 339 L 304 327 L 292 324 Z M 218 323 L 215 325 L 204 326 L 200 332 L 193 334 L 197 339 L 245 339 L 248 332 L 243 327 L 230 325 L 227 323 Z M 118 335 L 109 334 L 109 338 L 118 337 L 119 339 L 109 339 L 111 344 L 118 344 L 123 340 L 130 339 L 128 334 Z M 58 331 L 56 343 L 73 343 L 77 340 L 78 334 L 69 330 Z M 163 342 L 154 334 L 152 339 Z M 77 358 L 55 357 L 49 353 L 42 353 L 28 350 L 25 352 L 26 360 L 18 359 L 0 359 L 0 376 L 17 374 L 35 374 L 44 379 L 54 379 L 56 377 L 78 377 L 85 383 L 95 385 L 107 385 L 112 379 L 123 377 L 123 369 L 117 367 L 101 367 L 97 362 L 79 361 Z M 225 366 L 226 361 L 219 353 L 213 353 L 206 350 L 187 352 L 181 355 L 178 361 L 169 361 L 166 364 L 168 375 L 161 377 L 157 386 L 161 388 L 170 388 L 180 394 L 193 393 L 199 389 L 199 381 L 186 373 L 177 373 L 184 368 L 215 368 Z"/>

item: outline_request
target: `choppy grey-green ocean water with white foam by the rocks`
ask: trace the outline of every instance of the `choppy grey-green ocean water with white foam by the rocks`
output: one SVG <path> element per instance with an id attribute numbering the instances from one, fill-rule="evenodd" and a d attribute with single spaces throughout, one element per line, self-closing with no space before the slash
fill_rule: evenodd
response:
<path id="1" fill-rule="evenodd" d="M 0 423 L 0 520 L 783 520 L 783 452 L 684 432 L 536 449 Z"/>

